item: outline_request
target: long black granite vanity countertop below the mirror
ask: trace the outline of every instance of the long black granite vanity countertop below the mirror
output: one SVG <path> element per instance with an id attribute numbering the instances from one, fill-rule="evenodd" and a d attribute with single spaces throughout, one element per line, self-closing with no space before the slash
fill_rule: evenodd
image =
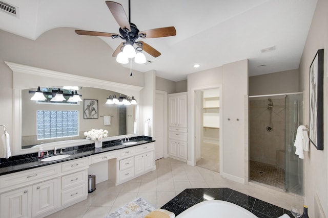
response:
<path id="1" fill-rule="evenodd" d="M 0 176 L 19 171 L 25 171 L 27 169 L 32 169 L 40 166 L 47 166 L 59 162 L 65 162 L 77 158 L 88 157 L 104 152 L 139 146 L 140 144 L 154 142 L 155 140 L 153 140 L 152 137 L 137 136 L 131 137 L 130 141 L 136 141 L 137 143 L 132 145 L 124 145 L 120 142 L 119 139 L 117 139 L 112 141 L 104 141 L 102 148 L 94 148 L 94 143 L 85 144 L 83 146 L 69 147 L 66 148 L 63 152 L 63 154 L 70 154 L 69 157 L 53 161 L 42 161 L 42 159 L 39 159 L 37 157 L 37 153 L 12 156 L 9 159 L 1 158 Z M 59 155 L 59 152 L 57 152 L 57 155 Z M 49 151 L 49 157 L 50 156 L 53 156 L 53 151 Z"/>

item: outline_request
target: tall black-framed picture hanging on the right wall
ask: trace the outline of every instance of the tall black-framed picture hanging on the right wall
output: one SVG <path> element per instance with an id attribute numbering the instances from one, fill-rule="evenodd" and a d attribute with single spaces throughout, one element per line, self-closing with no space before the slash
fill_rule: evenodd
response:
<path id="1" fill-rule="evenodd" d="M 323 49 L 317 51 L 310 65 L 309 138 L 317 150 L 323 150 Z"/>

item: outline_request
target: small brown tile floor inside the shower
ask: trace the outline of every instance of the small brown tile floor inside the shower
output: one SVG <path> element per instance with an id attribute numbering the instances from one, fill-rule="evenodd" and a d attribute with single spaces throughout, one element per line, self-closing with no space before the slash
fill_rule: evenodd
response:
<path id="1" fill-rule="evenodd" d="M 285 188 L 285 171 L 275 165 L 250 160 L 250 180 Z"/>

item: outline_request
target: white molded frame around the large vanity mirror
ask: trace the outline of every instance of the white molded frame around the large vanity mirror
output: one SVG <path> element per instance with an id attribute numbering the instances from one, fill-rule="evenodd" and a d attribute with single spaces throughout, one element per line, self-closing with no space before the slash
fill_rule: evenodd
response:
<path id="1" fill-rule="evenodd" d="M 5 61 L 5 63 L 13 71 L 13 131 L 15 133 L 13 134 L 13 155 L 21 155 L 38 151 L 38 148 L 22 149 L 22 89 L 37 88 L 38 86 L 55 87 L 58 86 L 58 84 L 60 84 L 60 86 L 69 86 L 74 84 L 76 86 L 101 88 L 109 91 L 119 92 L 128 96 L 134 96 L 134 98 L 137 99 L 140 104 L 140 90 L 143 88 L 141 86 L 127 85 L 89 77 L 66 74 L 64 72 L 42 69 L 7 61 Z M 132 137 L 139 135 L 139 104 L 136 107 L 137 133 L 112 136 L 104 139 L 104 141 L 115 140 L 122 138 L 122 136 Z M 90 140 L 77 139 L 45 143 L 43 147 L 47 147 L 47 150 L 50 150 L 54 147 L 64 148 L 89 143 Z"/>

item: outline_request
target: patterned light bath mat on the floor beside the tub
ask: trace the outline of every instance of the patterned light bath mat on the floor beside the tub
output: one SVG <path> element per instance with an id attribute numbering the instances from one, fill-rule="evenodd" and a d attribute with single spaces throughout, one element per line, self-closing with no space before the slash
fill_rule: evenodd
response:
<path id="1" fill-rule="evenodd" d="M 137 198 L 115 212 L 108 214 L 105 218 L 143 218 L 153 210 L 156 210 L 156 208 L 152 204 L 142 198 Z"/>

